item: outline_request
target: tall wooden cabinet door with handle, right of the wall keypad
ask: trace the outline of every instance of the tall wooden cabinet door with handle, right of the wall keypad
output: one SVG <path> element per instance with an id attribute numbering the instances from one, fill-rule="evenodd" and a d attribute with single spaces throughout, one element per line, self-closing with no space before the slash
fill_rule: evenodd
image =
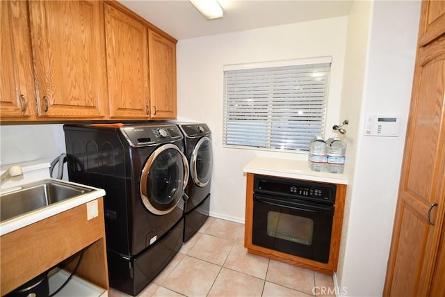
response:
<path id="1" fill-rule="evenodd" d="M 442 35 L 417 51 L 385 296 L 428 296 L 445 211 L 444 95 Z"/>

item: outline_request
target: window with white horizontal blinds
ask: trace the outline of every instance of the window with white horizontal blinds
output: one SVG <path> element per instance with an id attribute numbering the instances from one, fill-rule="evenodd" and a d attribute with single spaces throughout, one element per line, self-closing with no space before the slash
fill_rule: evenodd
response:
<path id="1" fill-rule="evenodd" d="M 323 136 L 331 58 L 224 68 L 223 144 L 307 151 Z"/>

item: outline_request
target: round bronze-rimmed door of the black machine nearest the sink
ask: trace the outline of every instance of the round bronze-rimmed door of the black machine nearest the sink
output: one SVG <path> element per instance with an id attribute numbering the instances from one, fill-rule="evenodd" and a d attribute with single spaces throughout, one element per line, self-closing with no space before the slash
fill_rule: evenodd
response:
<path id="1" fill-rule="evenodd" d="M 176 145 L 162 145 L 149 156 L 142 170 L 142 202 L 153 214 L 168 214 L 182 201 L 187 181 L 186 156 Z"/>

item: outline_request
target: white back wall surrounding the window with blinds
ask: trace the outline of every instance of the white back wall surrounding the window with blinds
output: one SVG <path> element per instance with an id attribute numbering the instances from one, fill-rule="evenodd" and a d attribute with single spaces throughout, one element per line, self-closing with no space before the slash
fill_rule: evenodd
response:
<path id="1" fill-rule="evenodd" d="M 178 115 L 212 131 L 211 215 L 238 222 L 245 216 L 244 166 L 260 153 L 222 147 L 223 65 L 332 56 L 327 126 L 337 124 L 347 17 L 180 40 L 177 44 Z M 291 158 L 307 155 L 288 154 Z"/>

